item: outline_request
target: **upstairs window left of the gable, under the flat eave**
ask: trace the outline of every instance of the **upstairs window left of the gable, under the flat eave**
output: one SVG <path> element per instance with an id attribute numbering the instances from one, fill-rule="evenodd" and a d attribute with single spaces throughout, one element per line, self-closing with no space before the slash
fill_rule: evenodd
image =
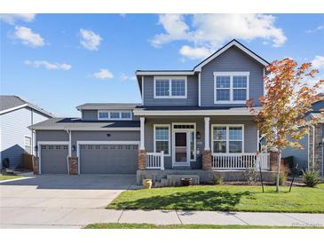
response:
<path id="1" fill-rule="evenodd" d="M 186 98 L 186 77 L 154 77 L 154 98 Z"/>

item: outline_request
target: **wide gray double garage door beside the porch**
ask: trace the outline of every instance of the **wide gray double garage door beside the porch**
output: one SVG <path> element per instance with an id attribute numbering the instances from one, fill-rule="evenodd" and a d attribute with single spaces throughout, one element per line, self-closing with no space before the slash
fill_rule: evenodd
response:
<path id="1" fill-rule="evenodd" d="M 81 174 L 136 174 L 138 145 L 80 145 Z"/>

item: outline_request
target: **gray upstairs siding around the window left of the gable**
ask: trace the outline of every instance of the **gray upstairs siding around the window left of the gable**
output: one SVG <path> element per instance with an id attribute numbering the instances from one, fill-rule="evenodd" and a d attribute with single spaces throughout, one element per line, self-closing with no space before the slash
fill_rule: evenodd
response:
<path id="1" fill-rule="evenodd" d="M 197 75 L 187 76 L 186 97 L 187 98 L 154 98 L 154 76 L 144 77 L 144 106 L 198 106 Z"/>

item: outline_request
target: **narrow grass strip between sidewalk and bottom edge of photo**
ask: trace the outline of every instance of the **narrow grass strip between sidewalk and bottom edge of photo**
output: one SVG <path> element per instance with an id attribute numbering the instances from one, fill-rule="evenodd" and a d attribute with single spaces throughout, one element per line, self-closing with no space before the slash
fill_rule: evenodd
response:
<path id="1" fill-rule="evenodd" d="M 93 223 L 84 229 L 324 229 L 324 227 L 288 227 L 258 225 L 168 224 L 150 223 Z"/>

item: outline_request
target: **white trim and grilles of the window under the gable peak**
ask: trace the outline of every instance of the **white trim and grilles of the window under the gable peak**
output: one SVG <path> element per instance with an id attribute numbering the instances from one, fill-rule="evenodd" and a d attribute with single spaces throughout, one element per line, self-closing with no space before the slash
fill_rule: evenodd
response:
<path id="1" fill-rule="evenodd" d="M 230 90 L 229 100 L 217 100 L 216 90 L 225 90 L 217 88 L 216 78 L 217 76 L 230 76 L 230 88 L 225 88 Z M 214 104 L 245 104 L 246 100 L 233 100 L 233 90 L 239 88 L 233 88 L 233 76 L 247 76 L 247 99 L 249 99 L 249 72 L 214 72 Z M 240 88 L 244 89 L 244 88 Z"/>

